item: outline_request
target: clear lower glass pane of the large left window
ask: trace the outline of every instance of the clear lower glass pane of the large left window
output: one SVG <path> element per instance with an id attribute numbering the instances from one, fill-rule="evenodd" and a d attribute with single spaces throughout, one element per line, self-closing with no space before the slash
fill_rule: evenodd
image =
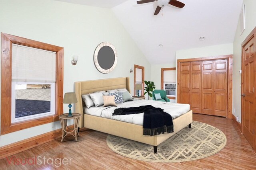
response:
<path id="1" fill-rule="evenodd" d="M 50 84 L 16 84 L 15 118 L 51 111 Z"/>

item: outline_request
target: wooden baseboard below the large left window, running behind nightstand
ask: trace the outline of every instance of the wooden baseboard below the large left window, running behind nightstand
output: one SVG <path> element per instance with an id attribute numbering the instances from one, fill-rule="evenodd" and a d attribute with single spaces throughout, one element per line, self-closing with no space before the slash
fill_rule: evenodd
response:
<path id="1" fill-rule="evenodd" d="M 74 125 L 70 125 L 69 128 L 74 128 Z M 31 149 L 38 145 L 42 145 L 60 137 L 62 137 L 62 130 L 57 129 L 48 133 L 44 133 L 42 135 L 38 135 L 35 137 L 24 139 L 22 141 L 18 141 L 16 143 L 12 143 L 10 145 L 0 147 L 0 159 L 22 152 L 24 150 Z"/>

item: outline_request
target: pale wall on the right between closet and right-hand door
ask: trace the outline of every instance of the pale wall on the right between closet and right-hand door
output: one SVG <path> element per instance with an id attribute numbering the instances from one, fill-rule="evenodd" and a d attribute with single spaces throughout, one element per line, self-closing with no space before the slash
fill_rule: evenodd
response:
<path id="1" fill-rule="evenodd" d="M 241 45 L 244 39 L 250 34 L 250 32 L 256 27 L 256 0 L 244 0 L 245 4 L 245 21 L 246 28 L 242 35 L 240 35 L 240 20 L 238 21 L 236 35 L 234 38 L 234 55 L 233 55 L 233 114 L 239 116 L 241 122 L 241 74 L 238 73 L 241 67 Z M 234 111 L 235 109 L 235 111 Z"/>

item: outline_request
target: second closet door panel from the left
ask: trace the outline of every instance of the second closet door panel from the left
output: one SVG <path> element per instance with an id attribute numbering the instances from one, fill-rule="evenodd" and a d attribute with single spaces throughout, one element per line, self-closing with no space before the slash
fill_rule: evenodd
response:
<path id="1" fill-rule="evenodd" d="M 193 110 L 194 113 L 201 113 L 202 61 L 191 62 L 190 68 L 190 109 Z"/>

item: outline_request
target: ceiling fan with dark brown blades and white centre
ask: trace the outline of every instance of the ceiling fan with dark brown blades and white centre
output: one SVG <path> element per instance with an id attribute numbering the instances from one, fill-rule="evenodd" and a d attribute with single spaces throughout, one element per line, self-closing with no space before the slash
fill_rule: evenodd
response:
<path id="1" fill-rule="evenodd" d="M 163 8 L 167 4 L 170 4 L 172 6 L 176 6 L 178 8 L 183 8 L 185 6 L 185 4 L 183 4 L 182 2 L 177 1 L 177 0 L 140 0 L 140 1 L 137 1 L 137 4 L 145 4 L 145 3 L 148 3 L 148 2 L 154 2 L 154 1 L 157 1 L 157 5 L 158 5 L 156 7 L 156 11 L 155 11 L 154 15 L 159 14 L 161 8 Z"/>

